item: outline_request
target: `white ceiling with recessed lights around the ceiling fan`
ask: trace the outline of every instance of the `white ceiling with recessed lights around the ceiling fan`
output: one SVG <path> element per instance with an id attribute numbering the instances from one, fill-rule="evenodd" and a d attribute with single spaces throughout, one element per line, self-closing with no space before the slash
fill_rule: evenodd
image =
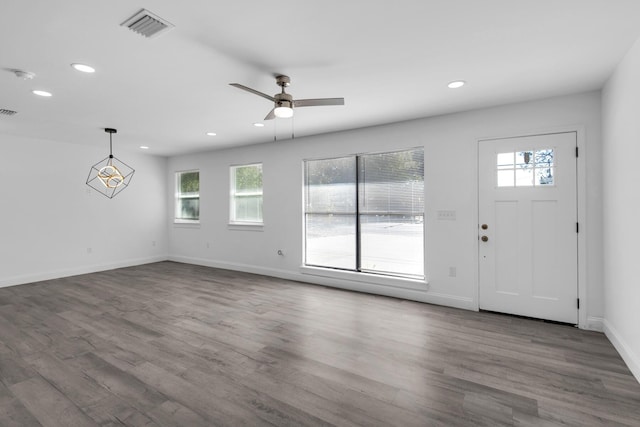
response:
<path id="1" fill-rule="evenodd" d="M 175 28 L 146 39 L 120 26 L 141 8 Z M 18 111 L 0 115 L 1 134 L 106 147 L 102 129 L 115 127 L 116 150 L 158 155 L 598 89 L 640 37 L 638 0 L 0 0 L 0 11 L 0 108 Z M 272 105 L 229 83 L 275 94 L 276 74 L 296 99 L 346 105 L 256 128 Z M 468 84 L 448 89 L 456 79 Z"/>

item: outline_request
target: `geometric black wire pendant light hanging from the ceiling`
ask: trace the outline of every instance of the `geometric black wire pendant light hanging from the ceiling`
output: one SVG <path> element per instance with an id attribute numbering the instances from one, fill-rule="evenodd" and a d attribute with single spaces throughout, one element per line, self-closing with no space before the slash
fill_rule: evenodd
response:
<path id="1" fill-rule="evenodd" d="M 104 131 L 109 134 L 109 157 L 91 166 L 87 177 L 87 185 L 112 199 L 116 194 L 127 188 L 135 170 L 113 156 L 112 136 L 118 131 L 111 128 L 106 128 Z"/>

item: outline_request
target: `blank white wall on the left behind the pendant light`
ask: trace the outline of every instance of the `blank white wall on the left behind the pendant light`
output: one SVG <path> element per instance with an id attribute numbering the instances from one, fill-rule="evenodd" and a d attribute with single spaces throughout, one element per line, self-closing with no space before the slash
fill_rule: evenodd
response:
<path id="1" fill-rule="evenodd" d="M 108 199 L 85 184 L 107 149 L 0 135 L 0 286 L 166 259 L 166 158 L 119 151 Z"/>

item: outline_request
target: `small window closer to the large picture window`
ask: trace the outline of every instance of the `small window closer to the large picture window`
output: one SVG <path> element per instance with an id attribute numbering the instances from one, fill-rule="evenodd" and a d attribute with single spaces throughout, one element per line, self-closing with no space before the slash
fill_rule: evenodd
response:
<path id="1" fill-rule="evenodd" d="M 232 224 L 261 225 L 262 164 L 231 166 Z"/>

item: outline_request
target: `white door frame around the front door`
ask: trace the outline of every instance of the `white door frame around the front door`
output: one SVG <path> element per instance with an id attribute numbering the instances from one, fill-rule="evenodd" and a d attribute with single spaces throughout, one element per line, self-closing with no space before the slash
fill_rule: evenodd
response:
<path id="1" fill-rule="evenodd" d="M 586 197 L 586 132 L 584 125 L 567 125 L 567 126 L 555 126 L 546 127 L 541 129 L 529 129 L 526 131 L 513 131 L 509 133 L 498 134 L 497 136 L 486 136 L 476 138 L 476 171 L 475 176 L 479 178 L 480 173 L 480 142 L 494 139 L 511 139 L 526 136 L 536 136 L 544 134 L 554 133 L 576 133 L 576 146 L 578 147 L 578 158 L 576 163 L 576 196 L 577 196 L 577 217 L 580 224 L 578 234 L 578 298 L 580 299 L 580 308 L 578 309 L 578 327 L 580 329 L 597 329 L 597 325 L 590 325 L 587 317 L 587 311 L 589 307 L 589 295 L 587 292 L 587 197 Z M 475 229 L 474 238 L 476 240 L 476 292 L 475 292 L 475 309 L 480 310 L 480 183 L 479 179 L 476 186 L 476 212 L 475 212 Z M 593 320 L 593 323 L 596 319 Z"/>

